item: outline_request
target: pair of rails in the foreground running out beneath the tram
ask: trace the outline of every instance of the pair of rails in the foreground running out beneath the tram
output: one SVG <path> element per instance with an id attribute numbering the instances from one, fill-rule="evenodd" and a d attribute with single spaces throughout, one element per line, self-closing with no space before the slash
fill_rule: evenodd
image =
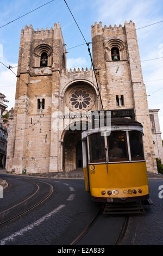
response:
<path id="1" fill-rule="evenodd" d="M 98 221 L 99 217 L 102 215 L 103 209 L 100 209 L 96 216 L 92 219 L 90 224 L 87 225 L 87 227 L 80 233 L 76 239 L 74 239 L 70 245 L 77 245 L 77 243 L 82 240 L 82 238 L 89 232 L 89 230 L 93 227 L 93 225 Z M 127 227 L 128 227 L 128 221 L 129 221 L 129 215 L 124 215 L 124 221 L 122 223 L 122 227 L 119 230 L 119 233 L 115 239 L 115 241 L 112 243 L 112 245 L 121 245 L 123 241 L 123 237 L 126 233 Z"/>

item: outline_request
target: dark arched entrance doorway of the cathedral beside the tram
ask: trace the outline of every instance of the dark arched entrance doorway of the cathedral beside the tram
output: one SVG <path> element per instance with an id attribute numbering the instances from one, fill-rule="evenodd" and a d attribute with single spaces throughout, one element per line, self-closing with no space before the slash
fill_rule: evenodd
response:
<path id="1" fill-rule="evenodd" d="M 66 131 L 63 143 L 63 170 L 83 167 L 82 131 Z"/>

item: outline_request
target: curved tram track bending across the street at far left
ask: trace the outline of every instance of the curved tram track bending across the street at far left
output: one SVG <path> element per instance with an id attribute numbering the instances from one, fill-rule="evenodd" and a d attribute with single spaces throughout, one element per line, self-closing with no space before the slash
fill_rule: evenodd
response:
<path id="1" fill-rule="evenodd" d="M 29 181 L 29 180 L 28 180 L 28 181 Z M 30 182 L 35 183 L 35 182 L 33 182 L 33 181 L 30 181 Z M 50 191 L 48 192 L 48 194 L 46 194 L 45 197 L 43 197 L 41 200 L 39 200 L 39 202 L 37 202 L 37 203 L 35 203 L 34 205 L 30 206 L 28 209 L 23 210 L 23 211 L 20 212 L 19 214 L 16 214 L 14 217 L 8 218 L 7 220 L 0 222 L 0 227 L 1 227 L 2 225 L 8 224 L 8 223 L 11 222 L 11 221 L 16 220 L 18 217 L 21 217 L 21 216 L 27 214 L 27 212 L 29 212 L 29 211 L 35 209 L 37 206 L 39 206 L 40 204 L 42 204 L 43 202 L 45 202 L 45 200 L 47 200 L 47 199 L 51 196 L 51 194 L 52 194 L 53 191 L 54 191 L 53 186 L 52 186 L 51 184 L 49 184 L 48 182 L 45 182 L 45 181 L 40 181 L 40 180 L 39 180 L 39 182 L 44 183 L 44 184 L 47 184 L 47 185 L 50 187 Z M 36 194 L 40 191 L 40 186 L 39 186 L 39 184 L 38 184 L 39 182 L 37 181 L 37 184 L 35 183 L 36 186 L 37 186 L 37 189 L 36 189 L 36 191 L 35 191 L 32 195 L 30 195 L 28 198 L 24 199 L 22 202 L 11 206 L 9 209 L 6 209 L 6 210 L 0 212 L 0 215 L 5 215 L 7 212 L 10 212 L 11 210 L 16 209 L 18 206 L 23 205 L 23 204 L 27 204 L 27 202 L 28 202 L 30 199 L 32 199 L 34 196 L 36 196 Z M 1 216 L 0 216 L 0 218 L 1 218 Z"/>

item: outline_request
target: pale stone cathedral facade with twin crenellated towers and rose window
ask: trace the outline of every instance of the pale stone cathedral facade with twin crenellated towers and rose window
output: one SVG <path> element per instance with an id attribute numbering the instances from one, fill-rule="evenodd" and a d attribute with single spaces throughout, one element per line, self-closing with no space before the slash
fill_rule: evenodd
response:
<path id="1" fill-rule="evenodd" d="M 104 109 L 134 109 L 142 123 L 147 169 L 156 171 L 154 144 L 135 24 L 92 26 L 92 56 Z M 66 69 L 60 24 L 21 31 L 15 112 L 9 135 L 9 171 L 71 171 L 82 167 L 81 131 L 66 130 L 71 113 L 101 110 L 91 69 Z M 58 115 L 63 129 L 58 129 Z M 69 113 L 69 114 L 67 114 Z M 68 117 L 68 120 L 67 120 Z M 87 116 L 83 117 L 87 122 Z M 81 117 L 77 120 L 80 123 Z"/>

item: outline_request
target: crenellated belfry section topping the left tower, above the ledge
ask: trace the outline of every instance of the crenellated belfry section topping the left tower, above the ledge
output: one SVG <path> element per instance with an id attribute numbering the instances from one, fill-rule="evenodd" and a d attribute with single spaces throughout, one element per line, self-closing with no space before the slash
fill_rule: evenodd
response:
<path id="1" fill-rule="evenodd" d="M 60 23 L 54 23 L 54 27 L 41 30 L 32 25 L 26 25 L 21 31 L 20 56 L 18 63 L 18 75 L 21 73 L 45 74 L 47 68 L 60 70 L 66 68 L 66 44 L 62 36 Z M 41 54 L 46 56 L 45 66 L 41 66 Z M 40 68 L 40 70 L 36 70 Z M 44 68 L 41 70 L 41 68 Z"/>

